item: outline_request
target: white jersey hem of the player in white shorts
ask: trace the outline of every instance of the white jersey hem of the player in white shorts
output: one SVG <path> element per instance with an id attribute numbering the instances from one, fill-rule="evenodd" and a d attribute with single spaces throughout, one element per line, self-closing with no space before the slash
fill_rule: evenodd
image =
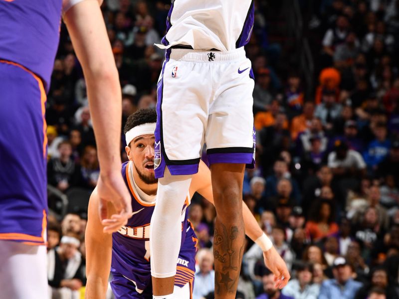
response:
<path id="1" fill-rule="evenodd" d="M 162 49 L 230 51 L 248 43 L 253 29 L 253 0 L 172 0 Z"/>

